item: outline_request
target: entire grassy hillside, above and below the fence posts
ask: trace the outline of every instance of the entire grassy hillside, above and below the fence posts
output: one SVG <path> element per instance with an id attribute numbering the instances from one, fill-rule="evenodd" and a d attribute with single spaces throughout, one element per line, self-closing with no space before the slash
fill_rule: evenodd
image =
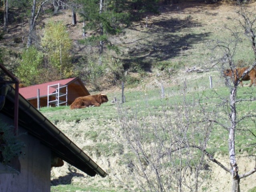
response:
<path id="1" fill-rule="evenodd" d="M 251 3 L 249 6 L 254 8 L 256 3 Z M 148 15 L 147 27 L 146 18 L 144 18 L 126 28 L 123 34 L 111 37 L 111 43 L 119 46 L 121 53 L 116 54 L 106 49 L 105 62 L 111 62 L 112 57 L 117 58 L 127 72 L 125 76 L 126 102 L 121 105 L 127 118 L 133 117 L 139 125 L 158 124 L 165 120 L 165 112 L 171 119 L 185 98 L 187 102 L 197 106 L 191 110 L 191 114 L 194 113 L 196 116 L 200 111 L 199 104 L 201 104 L 208 109 L 207 114 L 212 114 L 216 120 L 229 126 L 228 108 L 222 105 L 228 99 L 229 88 L 225 86 L 221 66 L 214 65 L 216 62 L 213 60 L 215 57 L 222 56 L 223 53 L 212 52 L 210 48 L 214 46 L 212 40 L 228 41 L 230 39 L 231 34 L 224 26 L 228 28 L 239 26 L 234 20 L 236 9 L 236 6 L 226 4 L 226 2 L 207 5 L 190 0 L 182 4 L 161 6 L 159 9 L 161 14 Z M 42 22 L 47 22 L 49 19 L 46 17 Z M 81 20 L 76 26 L 70 26 L 71 17 L 67 11 L 60 12 L 53 16 L 53 19 L 62 20 L 69 26 L 68 30 L 74 42 L 72 54 L 75 60 L 79 60 L 82 56 L 95 56 L 95 47 L 79 43 L 82 40 Z M 241 31 L 239 28 L 238 30 Z M 41 32 L 39 29 L 38 31 Z M 26 24 L 17 25 L 11 28 L 10 33 L 5 34 L 4 40 L 0 42 L 6 54 L 5 64 L 11 70 L 15 64 L 15 58 L 18 57 L 25 44 L 10 42 L 14 37 L 24 34 L 26 34 Z M 254 59 L 250 42 L 244 36 L 240 38 L 234 59 L 244 65 Z M 194 66 L 203 72 L 187 72 Z M 213 89 L 210 89 L 209 76 L 213 80 Z M 115 104 L 110 102 L 114 97 L 121 100 L 120 82 L 113 86 L 107 78 L 102 78 L 101 81 L 101 92 L 107 94 L 109 102 L 100 107 L 70 110 L 69 107 L 64 106 L 42 108 L 41 112 L 95 160 L 109 176 L 90 178 L 65 163 L 65 166 L 61 168 L 52 169 L 51 190 L 53 192 L 131 191 L 127 185 L 139 191 L 137 181 L 130 172 L 131 165 L 129 165 L 127 156 L 132 158 L 133 155 L 129 153 L 127 141 L 121 132 L 119 110 Z M 91 94 L 99 93 L 94 91 L 88 81 L 85 81 L 85 85 Z M 161 98 L 161 86 L 165 91 L 164 98 Z M 183 97 L 184 88 L 185 97 Z M 245 86 L 238 89 L 238 98 L 250 98 L 256 94 L 255 92 L 256 90 L 249 88 L 248 82 L 245 82 Z M 239 117 L 243 114 L 255 114 L 255 105 L 254 102 L 238 105 Z M 215 113 L 216 111 L 218 113 Z M 244 131 L 246 129 L 251 132 Z M 236 152 L 242 173 L 254 166 L 252 157 L 247 156 L 256 152 L 255 137 L 252 133 L 256 134 L 255 125 L 252 122 L 244 120 L 239 123 L 236 133 Z M 215 125 L 208 142 L 209 152 L 225 166 L 229 166 L 227 134 L 227 130 Z M 208 163 L 212 173 L 210 182 L 205 182 L 200 189 L 230 191 L 230 174 L 211 162 Z M 254 178 L 253 175 L 242 180 L 241 190 L 247 191 L 255 187 Z"/>

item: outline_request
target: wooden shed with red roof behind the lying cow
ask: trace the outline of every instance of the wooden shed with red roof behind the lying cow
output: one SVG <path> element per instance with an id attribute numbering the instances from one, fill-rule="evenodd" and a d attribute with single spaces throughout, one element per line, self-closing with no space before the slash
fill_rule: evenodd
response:
<path id="1" fill-rule="evenodd" d="M 43 84 L 19 88 L 19 93 L 37 108 L 38 90 L 40 107 L 70 105 L 75 98 L 90 95 L 80 78 L 69 78 Z M 48 103 L 48 101 L 50 103 Z"/>

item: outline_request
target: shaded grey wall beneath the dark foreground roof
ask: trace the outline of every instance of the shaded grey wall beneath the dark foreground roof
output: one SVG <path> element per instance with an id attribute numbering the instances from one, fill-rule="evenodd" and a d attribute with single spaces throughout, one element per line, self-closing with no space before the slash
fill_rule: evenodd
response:
<path id="1" fill-rule="evenodd" d="M 10 122 L 2 114 L 0 120 Z M 24 129 L 19 128 L 19 133 L 26 144 L 25 155 L 19 157 L 20 174 L 0 174 L 0 192 L 50 192 L 51 150 Z"/>

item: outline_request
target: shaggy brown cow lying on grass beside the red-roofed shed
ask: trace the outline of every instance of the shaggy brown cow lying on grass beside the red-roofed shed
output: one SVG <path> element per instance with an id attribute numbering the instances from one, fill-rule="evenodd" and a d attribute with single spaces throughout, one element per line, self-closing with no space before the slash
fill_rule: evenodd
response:
<path id="1" fill-rule="evenodd" d="M 108 102 L 106 94 L 88 95 L 84 97 L 78 97 L 69 106 L 71 109 L 86 108 L 89 106 L 101 106 L 102 103 Z"/>

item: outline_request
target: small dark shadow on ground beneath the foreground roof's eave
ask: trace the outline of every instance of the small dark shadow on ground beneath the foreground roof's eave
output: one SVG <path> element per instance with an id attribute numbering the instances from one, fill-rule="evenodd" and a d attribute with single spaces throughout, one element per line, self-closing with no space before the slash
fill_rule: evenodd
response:
<path id="1" fill-rule="evenodd" d="M 65 176 L 60 176 L 58 179 L 51 180 L 51 186 L 57 185 L 68 185 L 71 184 L 73 177 L 85 177 L 84 174 L 77 173 L 77 171 L 72 171 L 69 167 L 69 173 Z"/>

